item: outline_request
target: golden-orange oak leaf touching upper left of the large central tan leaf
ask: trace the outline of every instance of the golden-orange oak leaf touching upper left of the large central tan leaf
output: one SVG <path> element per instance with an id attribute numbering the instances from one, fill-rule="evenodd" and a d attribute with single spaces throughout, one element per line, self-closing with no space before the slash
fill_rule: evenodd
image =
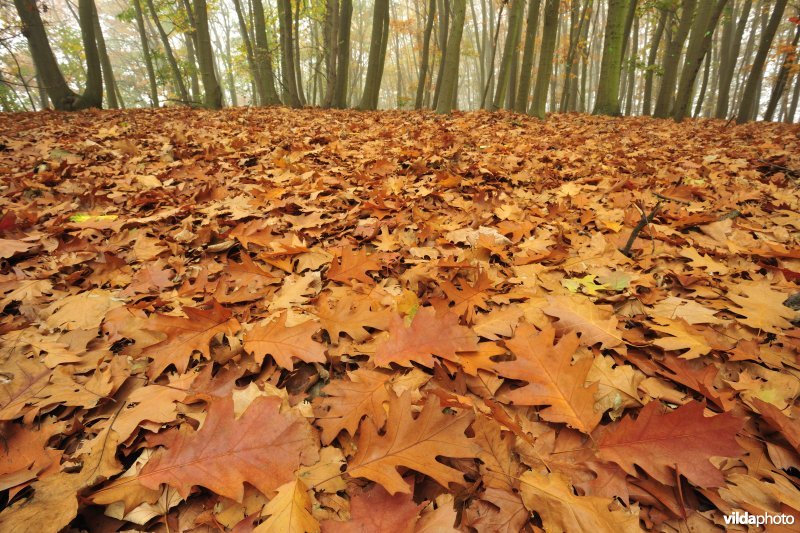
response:
<path id="1" fill-rule="evenodd" d="M 330 444 L 342 430 L 354 436 L 364 416 L 379 428 L 386 423 L 383 404 L 389 401 L 386 385 L 391 376 L 365 368 L 348 375 L 350 381 L 336 379 L 325 385 L 322 392 L 326 396 L 317 400 L 325 410 L 316 422 L 322 428 L 323 444 Z"/>

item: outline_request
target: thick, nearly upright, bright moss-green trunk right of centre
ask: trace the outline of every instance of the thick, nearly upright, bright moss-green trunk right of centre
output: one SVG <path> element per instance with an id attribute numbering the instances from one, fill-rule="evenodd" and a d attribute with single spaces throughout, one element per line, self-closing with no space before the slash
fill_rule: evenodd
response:
<path id="1" fill-rule="evenodd" d="M 622 42 L 630 0 L 609 0 L 603 39 L 600 82 L 597 85 L 595 115 L 619 115 L 619 80 L 622 74 Z"/>

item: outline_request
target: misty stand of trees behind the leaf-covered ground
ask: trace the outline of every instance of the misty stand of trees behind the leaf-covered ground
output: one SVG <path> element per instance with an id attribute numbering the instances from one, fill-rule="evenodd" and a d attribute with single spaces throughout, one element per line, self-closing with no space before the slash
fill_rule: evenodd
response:
<path id="1" fill-rule="evenodd" d="M 793 122 L 799 8 L 789 0 L 5 0 L 0 105 Z"/>

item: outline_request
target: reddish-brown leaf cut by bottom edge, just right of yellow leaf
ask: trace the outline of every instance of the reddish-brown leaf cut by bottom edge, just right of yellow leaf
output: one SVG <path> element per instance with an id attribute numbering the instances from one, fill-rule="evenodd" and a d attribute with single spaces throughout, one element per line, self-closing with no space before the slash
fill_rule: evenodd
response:
<path id="1" fill-rule="evenodd" d="M 366 533 L 369 531 L 391 531 L 413 533 L 419 510 L 424 504 L 416 504 L 412 494 L 398 492 L 389 494 L 380 485 L 371 485 L 350 497 L 350 520 L 336 522 L 325 520 L 324 533 Z"/>

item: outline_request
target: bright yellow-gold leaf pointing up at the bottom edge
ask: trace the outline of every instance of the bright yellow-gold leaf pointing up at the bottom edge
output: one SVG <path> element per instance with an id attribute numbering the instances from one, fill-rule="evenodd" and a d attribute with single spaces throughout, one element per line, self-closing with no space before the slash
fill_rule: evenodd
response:
<path id="1" fill-rule="evenodd" d="M 311 516 L 311 498 L 299 479 L 278 489 L 278 494 L 264 508 L 269 516 L 253 533 L 319 533 L 319 522 Z"/>

